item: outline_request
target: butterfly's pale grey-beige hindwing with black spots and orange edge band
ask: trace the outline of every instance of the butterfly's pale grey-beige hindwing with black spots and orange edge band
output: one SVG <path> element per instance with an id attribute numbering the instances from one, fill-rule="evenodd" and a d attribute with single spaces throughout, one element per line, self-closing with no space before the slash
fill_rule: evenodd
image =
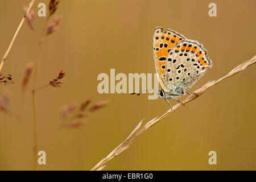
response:
<path id="1" fill-rule="evenodd" d="M 210 67 L 212 67 L 212 60 L 203 44 L 194 40 L 183 40 L 168 53 L 163 81 L 170 89 L 176 87 L 187 89 L 195 84 Z"/>

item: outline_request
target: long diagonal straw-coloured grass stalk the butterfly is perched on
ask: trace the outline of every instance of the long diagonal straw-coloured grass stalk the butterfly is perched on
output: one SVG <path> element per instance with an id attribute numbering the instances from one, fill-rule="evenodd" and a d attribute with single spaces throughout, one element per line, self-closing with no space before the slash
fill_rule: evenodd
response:
<path id="1" fill-rule="evenodd" d="M 247 60 L 244 63 L 238 65 L 236 68 L 234 68 L 232 71 L 230 71 L 228 73 L 228 75 L 226 75 L 226 76 L 224 76 L 224 77 L 222 77 L 222 78 L 220 78 L 216 81 L 209 81 L 207 84 L 205 84 L 204 86 L 202 86 L 201 88 L 197 89 L 194 92 L 198 96 L 196 96 L 195 94 L 189 95 L 185 100 L 182 101 L 183 104 L 187 104 L 188 102 L 190 102 L 190 101 L 194 100 L 195 98 L 201 96 L 201 94 L 203 94 L 207 89 L 209 89 L 213 85 L 216 85 L 219 82 L 223 81 L 225 78 L 228 78 L 230 76 L 233 76 L 233 75 L 243 71 L 245 68 L 249 67 L 250 65 L 254 64 L 255 62 L 256 62 L 256 56 L 254 56 L 252 59 Z M 102 159 L 100 162 L 98 162 L 96 164 L 96 166 L 94 166 L 90 170 L 91 171 L 94 171 L 94 170 L 97 170 L 97 169 L 101 170 L 106 162 L 115 158 L 116 156 L 121 154 L 123 151 L 125 151 L 130 146 L 131 142 L 133 142 L 133 140 L 135 138 L 139 137 L 139 135 L 141 135 L 144 131 L 148 130 L 151 126 L 154 126 L 156 123 L 161 121 L 163 118 L 167 117 L 167 115 L 171 114 L 173 111 L 179 109 L 181 106 L 183 106 L 181 103 L 176 104 L 175 106 L 172 107 L 172 109 L 169 109 L 166 113 L 164 113 L 159 118 L 154 118 L 151 121 L 148 121 L 141 129 L 142 121 L 144 120 L 143 119 L 141 122 L 139 122 L 138 126 L 135 127 L 135 129 L 131 132 L 129 137 L 126 138 L 126 140 L 124 140 L 121 144 L 119 144 L 119 146 L 117 146 L 112 152 L 110 152 L 110 154 L 108 156 L 106 156 L 104 159 Z"/>

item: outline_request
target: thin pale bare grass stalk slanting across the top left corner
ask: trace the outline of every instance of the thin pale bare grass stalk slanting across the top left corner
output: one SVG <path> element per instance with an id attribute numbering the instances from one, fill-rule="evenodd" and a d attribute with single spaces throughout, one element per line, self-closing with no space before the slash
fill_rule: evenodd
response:
<path id="1" fill-rule="evenodd" d="M 3 58 L 2 58 L 2 61 L 1 61 L 1 64 L 0 64 L 0 72 L 2 71 L 3 65 L 5 64 L 5 60 L 6 60 L 8 54 L 9 54 L 9 52 L 11 50 L 11 47 L 13 47 L 14 40 L 16 39 L 16 36 L 18 35 L 18 33 L 20 31 L 20 28 L 22 27 L 22 24 L 24 23 L 24 20 L 26 19 L 27 14 L 29 13 L 29 11 L 30 11 L 32 5 L 34 4 L 34 2 L 35 2 L 35 0 L 32 0 L 30 2 L 30 5 L 28 5 L 27 10 L 25 11 L 21 22 L 19 23 L 19 27 L 17 28 L 17 30 L 16 30 L 16 32 L 14 34 L 13 40 L 11 40 L 10 46 L 8 47 L 5 55 L 3 55 Z"/>

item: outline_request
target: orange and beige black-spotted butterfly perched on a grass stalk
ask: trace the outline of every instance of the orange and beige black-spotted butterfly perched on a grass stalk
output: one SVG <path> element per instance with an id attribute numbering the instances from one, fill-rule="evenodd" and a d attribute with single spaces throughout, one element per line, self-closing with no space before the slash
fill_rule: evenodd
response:
<path id="1" fill-rule="evenodd" d="M 176 98 L 191 92 L 188 89 L 212 67 L 212 60 L 203 44 L 187 39 L 170 28 L 163 32 L 163 27 L 156 27 L 152 46 L 155 69 L 162 88 L 158 96 L 170 106 L 167 99 L 180 102 Z"/>

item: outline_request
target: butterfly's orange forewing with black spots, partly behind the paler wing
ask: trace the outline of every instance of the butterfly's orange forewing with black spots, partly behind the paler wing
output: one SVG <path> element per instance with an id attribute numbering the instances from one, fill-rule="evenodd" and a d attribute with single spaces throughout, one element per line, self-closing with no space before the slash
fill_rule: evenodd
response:
<path id="1" fill-rule="evenodd" d="M 156 73 L 158 73 L 158 81 L 165 92 L 168 92 L 168 87 L 164 83 L 166 79 L 166 61 L 168 52 L 182 40 L 185 40 L 183 35 L 168 28 L 163 32 L 162 27 L 156 27 L 153 36 L 153 52 Z"/>

